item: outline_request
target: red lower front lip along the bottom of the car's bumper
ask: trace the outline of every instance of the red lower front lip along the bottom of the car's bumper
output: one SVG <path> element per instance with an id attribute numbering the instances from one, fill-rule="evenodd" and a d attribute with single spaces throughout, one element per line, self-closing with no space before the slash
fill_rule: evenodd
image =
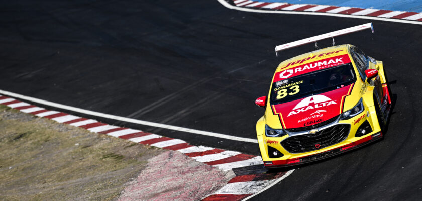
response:
<path id="1" fill-rule="evenodd" d="M 313 155 L 308 155 L 304 157 L 297 157 L 297 158 L 290 158 L 287 160 L 274 160 L 274 161 L 264 161 L 264 167 L 265 168 L 276 168 L 276 167 L 287 167 L 287 166 L 293 166 L 293 165 L 299 165 L 303 163 L 308 163 L 316 160 L 321 160 L 324 158 L 328 158 L 331 156 L 335 156 L 337 154 L 344 153 L 346 151 L 350 151 L 356 148 L 359 148 L 361 146 L 364 146 L 366 144 L 369 144 L 373 141 L 379 140 L 382 138 L 382 133 L 374 133 L 370 136 L 364 137 L 360 140 L 357 140 L 355 142 L 343 145 L 341 147 L 333 148 L 324 152 L 316 153 Z"/>

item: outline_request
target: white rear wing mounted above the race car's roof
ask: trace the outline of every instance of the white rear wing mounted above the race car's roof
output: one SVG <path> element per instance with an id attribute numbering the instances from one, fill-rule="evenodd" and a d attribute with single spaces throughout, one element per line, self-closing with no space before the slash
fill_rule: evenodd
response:
<path id="1" fill-rule="evenodd" d="M 291 43 L 286 43 L 286 44 L 283 44 L 283 45 L 278 45 L 278 46 L 275 46 L 275 54 L 278 56 L 279 51 L 287 50 L 287 49 L 290 49 L 290 48 L 293 48 L 293 47 L 305 45 L 305 44 L 312 43 L 312 42 L 315 42 L 315 45 L 316 45 L 316 41 L 327 39 L 327 38 L 333 38 L 333 45 L 334 45 L 334 37 L 335 36 L 341 36 L 341 35 L 344 35 L 344 34 L 358 32 L 358 31 L 362 31 L 362 30 L 365 30 L 365 29 L 369 29 L 369 28 L 371 28 L 372 33 L 374 33 L 374 27 L 372 26 L 372 23 L 367 23 L 367 24 L 358 25 L 358 26 L 355 26 L 355 27 L 350 27 L 350 28 L 330 32 L 330 33 L 327 33 L 327 34 L 321 34 L 321 35 L 318 35 L 318 36 L 305 38 L 305 39 L 302 39 L 302 40 L 294 41 L 294 42 L 291 42 Z"/>

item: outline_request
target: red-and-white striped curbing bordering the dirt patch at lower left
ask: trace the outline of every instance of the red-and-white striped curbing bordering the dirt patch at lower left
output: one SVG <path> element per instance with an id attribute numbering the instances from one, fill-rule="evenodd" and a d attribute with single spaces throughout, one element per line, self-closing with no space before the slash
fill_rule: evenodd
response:
<path id="1" fill-rule="evenodd" d="M 109 125 L 93 119 L 78 117 L 60 111 L 47 110 L 4 95 L 0 95 L 0 104 L 24 113 L 83 128 L 91 132 L 118 137 L 135 143 L 178 151 L 198 162 L 219 168 L 222 171 L 263 164 L 260 156 L 212 147 L 193 146 L 180 139 L 168 138 L 137 129 Z M 291 172 L 292 170 L 289 172 L 239 175 L 231 179 L 226 186 L 206 196 L 203 200 L 246 199 L 281 181 Z"/>

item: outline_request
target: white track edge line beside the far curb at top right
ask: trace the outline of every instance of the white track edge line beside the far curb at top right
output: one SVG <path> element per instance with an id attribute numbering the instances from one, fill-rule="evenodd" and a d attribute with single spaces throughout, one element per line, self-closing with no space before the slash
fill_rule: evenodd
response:
<path id="1" fill-rule="evenodd" d="M 380 18 L 380 17 L 374 17 L 374 16 L 344 15 L 344 14 L 337 14 L 337 13 L 319 13 L 319 12 L 301 12 L 301 11 L 268 11 L 268 10 L 251 9 L 251 8 L 233 6 L 229 3 L 227 3 L 225 0 L 217 0 L 217 1 L 219 1 L 220 4 L 222 4 L 223 6 L 225 6 L 228 9 L 234 9 L 234 10 L 238 10 L 238 11 L 245 11 L 245 12 L 252 12 L 252 13 L 279 13 L 279 14 L 299 14 L 299 15 L 316 15 L 316 16 L 335 16 L 335 17 L 342 17 L 342 18 L 359 18 L 359 19 L 380 20 L 380 21 L 388 21 L 388 22 L 399 22 L 399 23 L 422 25 L 422 22 L 420 22 L 420 21 Z M 271 4 L 269 4 L 269 5 L 271 5 Z M 264 7 L 261 7 L 261 8 L 268 8 L 268 7 L 264 6 Z M 307 10 L 305 10 L 305 11 L 307 11 Z M 6 93 L 4 93 L 4 94 L 7 95 Z"/>

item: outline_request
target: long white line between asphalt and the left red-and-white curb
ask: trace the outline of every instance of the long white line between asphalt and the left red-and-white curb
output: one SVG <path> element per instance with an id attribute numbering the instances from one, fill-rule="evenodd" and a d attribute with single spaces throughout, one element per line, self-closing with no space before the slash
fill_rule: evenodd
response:
<path id="1" fill-rule="evenodd" d="M 142 124 L 142 125 L 146 125 L 146 126 L 170 129 L 170 130 L 175 130 L 175 131 L 182 131 L 182 132 L 199 134 L 199 135 L 212 136 L 212 137 L 216 137 L 216 138 L 224 138 L 224 139 L 228 139 L 228 140 L 258 143 L 257 139 L 243 138 L 243 137 L 214 133 L 214 132 L 209 132 L 209 131 L 200 131 L 200 130 L 196 130 L 196 129 L 189 129 L 189 128 L 184 128 L 184 127 L 179 127 L 179 126 L 171 126 L 171 125 L 160 124 L 160 123 L 155 123 L 155 122 L 148 122 L 148 121 L 143 121 L 143 120 L 131 119 L 131 118 L 120 117 L 120 116 L 116 116 L 116 115 L 109 115 L 109 114 L 89 111 L 89 110 L 85 110 L 85 109 L 81 109 L 81 108 L 76 108 L 76 107 L 72 107 L 72 106 L 57 104 L 57 103 L 49 102 L 47 100 L 29 97 L 29 96 L 26 96 L 26 95 L 21 95 L 21 94 L 17 94 L 17 93 L 5 91 L 5 90 L 0 90 L 0 93 L 3 93 L 3 94 L 8 95 L 8 96 L 24 99 L 24 100 L 29 100 L 30 102 L 34 102 L 34 103 L 39 103 L 39 104 L 43 104 L 43 105 L 47 105 L 47 106 L 51 106 L 51 107 L 55 107 L 55 108 L 60 108 L 60 109 L 64 109 L 64 110 L 69 110 L 69 111 L 73 111 L 73 112 L 83 113 L 83 114 L 107 118 L 107 119 L 113 119 L 113 120 L 118 120 L 118 121 L 123 121 L 123 122 L 130 122 L 130 123 L 134 123 L 134 124 Z"/>

